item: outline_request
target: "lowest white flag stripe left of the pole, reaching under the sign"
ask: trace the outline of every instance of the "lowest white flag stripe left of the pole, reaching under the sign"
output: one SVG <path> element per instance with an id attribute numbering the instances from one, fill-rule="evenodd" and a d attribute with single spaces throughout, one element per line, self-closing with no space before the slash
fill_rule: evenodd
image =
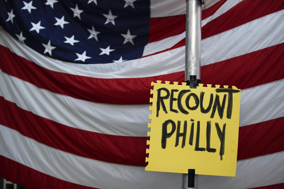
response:
<path id="1" fill-rule="evenodd" d="M 145 171 L 144 167 L 80 157 L 41 144 L 2 125 L 0 154 L 47 175 L 94 188 L 180 189 L 182 182 L 181 174 Z"/>

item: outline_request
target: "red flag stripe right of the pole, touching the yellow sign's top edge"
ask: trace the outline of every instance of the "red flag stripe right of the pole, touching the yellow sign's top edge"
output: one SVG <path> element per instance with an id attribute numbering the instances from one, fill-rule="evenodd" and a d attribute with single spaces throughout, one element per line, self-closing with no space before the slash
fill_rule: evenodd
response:
<path id="1" fill-rule="evenodd" d="M 201 83 L 246 89 L 284 78 L 284 43 L 201 67 Z"/>

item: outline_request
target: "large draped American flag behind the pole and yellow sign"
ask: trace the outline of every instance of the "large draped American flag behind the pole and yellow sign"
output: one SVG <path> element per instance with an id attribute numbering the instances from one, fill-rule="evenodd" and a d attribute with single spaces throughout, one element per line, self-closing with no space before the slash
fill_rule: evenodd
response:
<path id="1" fill-rule="evenodd" d="M 0 177 L 29 188 L 181 188 L 147 172 L 151 82 L 184 81 L 182 0 L 0 0 Z M 284 187 L 284 1 L 207 0 L 201 83 L 241 91 L 235 177 Z"/>

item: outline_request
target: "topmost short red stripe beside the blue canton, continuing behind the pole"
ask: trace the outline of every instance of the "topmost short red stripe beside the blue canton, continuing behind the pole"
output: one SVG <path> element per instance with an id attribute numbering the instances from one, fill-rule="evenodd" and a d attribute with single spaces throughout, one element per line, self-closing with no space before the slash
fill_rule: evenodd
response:
<path id="1" fill-rule="evenodd" d="M 206 17 L 214 14 L 222 4 L 227 0 L 221 0 L 213 6 L 206 9 Z M 202 11 L 202 19 L 205 18 L 205 11 Z M 174 35 L 181 34 L 185 31 L 186 15 L 176 15 L 169 17 L 157 17 L 150 19 L 150 31 L 149 31 L 149 42 L 162 40 Z M 173 30 L 174 28 L 174 30 Z"/>

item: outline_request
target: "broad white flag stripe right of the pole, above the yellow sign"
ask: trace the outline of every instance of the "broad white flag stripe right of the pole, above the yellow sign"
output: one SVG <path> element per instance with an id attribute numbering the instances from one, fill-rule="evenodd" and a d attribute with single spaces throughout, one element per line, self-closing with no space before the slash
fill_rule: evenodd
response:
<path id="1" fill-rule="evenodd" d="M 201 66 L 283 43 L 283 17 L 284 9 L 203 39 Z"/>

